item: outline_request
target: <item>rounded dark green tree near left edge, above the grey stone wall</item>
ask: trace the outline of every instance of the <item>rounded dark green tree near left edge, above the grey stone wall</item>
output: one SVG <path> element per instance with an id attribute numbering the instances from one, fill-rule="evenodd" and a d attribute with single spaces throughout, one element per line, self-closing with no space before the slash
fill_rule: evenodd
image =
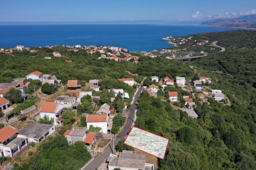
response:
<path id="1" fill-rule="evenodd" d="M 21 103 L 23 101 L 21 93 L 22 92 L 18 89 L 10 88 L 9 91 L 4 93 L 4 98 L 11 103 Z"/>

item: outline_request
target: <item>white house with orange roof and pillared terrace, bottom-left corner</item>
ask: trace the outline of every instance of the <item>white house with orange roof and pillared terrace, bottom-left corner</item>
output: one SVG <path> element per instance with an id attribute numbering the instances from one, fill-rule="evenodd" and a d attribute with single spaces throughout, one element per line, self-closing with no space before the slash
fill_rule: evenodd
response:
<path id="1" fill-rule="evenodd" d="M 10 156 L 12 158 L 13 152 L 17 150 L 20 152 L 20 147 L 24 144 L 27 146 L 26 136 L 18 134 L 18 131 L 12 126 L 0 129 L 0 157 Z"/>

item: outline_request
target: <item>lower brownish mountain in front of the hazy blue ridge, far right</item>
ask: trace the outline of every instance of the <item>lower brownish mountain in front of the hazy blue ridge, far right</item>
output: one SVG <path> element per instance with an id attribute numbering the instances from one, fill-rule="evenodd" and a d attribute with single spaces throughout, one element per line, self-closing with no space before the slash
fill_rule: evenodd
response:
<path id="1" fill-rule="evenodd" d="M 256 29 L 256 22 L 252 21 L 235 21 L 207 24 L 208 26 L 233 27 L 233 28 L 253 28 Z"/>

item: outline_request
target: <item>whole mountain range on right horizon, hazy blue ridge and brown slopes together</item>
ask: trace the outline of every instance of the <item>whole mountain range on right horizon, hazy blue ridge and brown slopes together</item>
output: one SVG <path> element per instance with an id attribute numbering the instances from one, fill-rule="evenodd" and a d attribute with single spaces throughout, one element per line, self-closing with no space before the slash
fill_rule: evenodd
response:
<path id="1" fill-rule="evenodd" d="M 256 14 L 237 18 L 211 19 L 202 22 L 201 25 L 256 29 Z"/>

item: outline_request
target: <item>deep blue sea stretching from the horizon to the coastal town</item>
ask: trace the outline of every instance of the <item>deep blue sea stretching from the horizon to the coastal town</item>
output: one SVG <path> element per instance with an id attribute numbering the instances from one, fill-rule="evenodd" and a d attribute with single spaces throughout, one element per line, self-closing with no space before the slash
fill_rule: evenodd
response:
<path id="1" fill-rule="evenodd" d="M 17 45 L 50 46 L 109 45 L 129 51 L 151 51 L 171 47 L 165 36 L 232 30 L 233 28 L 200 25 L 161 24 L 56 24 L 56 25 L 0 25 L 0 48 Z"/>

